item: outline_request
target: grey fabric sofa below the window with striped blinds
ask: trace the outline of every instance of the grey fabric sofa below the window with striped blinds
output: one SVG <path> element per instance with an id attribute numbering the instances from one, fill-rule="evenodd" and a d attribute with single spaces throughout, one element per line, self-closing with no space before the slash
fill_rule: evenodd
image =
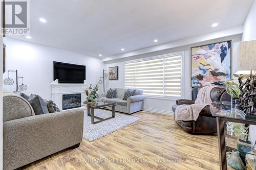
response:
<path id="1" fill-rule="evenodd" d="M 115 88 L 113 88 L 115 90 Z M 134 89 L 132 89 L 134 90 Z M 127 98 L 126 101 L 122 100 L 124 92 L 127 91 L 125 88 L 116 88 L 116 98 L 109 99 L 106 98 L 106 92 L 100 96 L 100 102 L 106 103 L 115 103 L 115 111 L 123 112 L 127 114 L 132 114 L 138 111 L 143 110 L 145 95 L 143 95 L 143 90 L 136 89 L 135 95 Z M 108 110 L 112 110 L 112 107 L 106 108 Z"/>

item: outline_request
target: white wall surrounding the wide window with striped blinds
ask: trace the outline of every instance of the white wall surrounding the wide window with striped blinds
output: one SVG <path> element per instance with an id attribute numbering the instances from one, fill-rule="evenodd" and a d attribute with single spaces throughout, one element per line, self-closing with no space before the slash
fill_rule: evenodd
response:
<path id="1" fill-rule="evenodd" d="M 108 70 L 109 67 L 112 66 L 118 66 L 119 67 L 119 80 L 108 80 L 107 81 L 107 89 L 112 88 L 124 88 L 124 64 L 126 62 L 129 62 L 131 60 L 146 58 L 146 57 L 152 57 L 157 56 L 161 54 L 168 54 L 168 53 L 176 53 L 176 52 L 184 52 L 184 98 L 185 99 L 191 99 L 191 87 L 190 87 L 190 47 L 197 46 L 197 45 L 204 45 L 208 43 L 214 43 L 214 42 L 220 42 L 225 40 L 232 40 L 233 42 L 233 52 L 234 48 L 237 47 L 238 42 L 241 41 L 241 34 L 236 36 L 230 36 L 225 38 L 219 38 L 215 40 L 210 41 L 204 41 L 200 43 L 195 43 L 191 45 L 176 47 L 176 48 L 169 48 L 167 50 L 153 52 L 153 53 L 147 53 L 143 55 L 137 55 L 129 58 L 122 58 L 118 60 L 113 61 L 107 61 L 106 63 L 106 69 Z M 237 59 L 232 59 L 232 72 L 237 71 Z M 154 99 L 154 98 L 146 98 L 144 102 L 144 110 L 146 111 L 154 111 L 154 112 L 160 112 L 160 113 L 167 113 L 172 114 L 172 105 L 175 104 L 174 100 L 166 100 L 166 99 Z"/>

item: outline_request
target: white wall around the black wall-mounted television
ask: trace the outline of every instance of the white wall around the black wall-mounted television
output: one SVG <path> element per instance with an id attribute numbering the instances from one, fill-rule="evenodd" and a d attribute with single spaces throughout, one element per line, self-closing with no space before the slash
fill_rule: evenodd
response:
<path id="1" fill-rule="evenodd" d="M 24 77 L 24 84 L 28 86 L 28 90 L 23 92 L 28 95 L 39 94 L 44 99 L 51 99 L 53 61 L 86 65 L 88 84 L 98 83 L 104 68 L 104 64 L 96 57 L 11 38 L 7 38 L 6 50 L 6 70 L 17 69 L 18 76 Z M 10 73 L 10 78 L 15 79 L 14 74 Z M 3 77 L 8 78 L 8 71 Z M 18 81 L 19 84 L 22 83 L 22 79 Z M 4 85 L 4 90 L 14 91 L 16 86 Z"/>

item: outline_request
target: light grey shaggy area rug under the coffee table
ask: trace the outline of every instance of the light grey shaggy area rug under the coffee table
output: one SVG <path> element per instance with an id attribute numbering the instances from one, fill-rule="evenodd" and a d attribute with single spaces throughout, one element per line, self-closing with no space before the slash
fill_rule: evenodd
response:
<path id="1" fill-rule="evenodd" d="M 112 116 L 112 112 L 95 109 L 94 114 L 98 117 L 107 118 Z M 94 141 L 112 132 L 115 132 L 127 125 L 135 123 L 139 117 L 115 113 L 115 118 L 103 122 L 92 124 L 91 117 L 87 115 L 87 110 L 83 114 L 83 138 L 88 141 Z M 95 119 L 97 121 L 97 119 Z"/>

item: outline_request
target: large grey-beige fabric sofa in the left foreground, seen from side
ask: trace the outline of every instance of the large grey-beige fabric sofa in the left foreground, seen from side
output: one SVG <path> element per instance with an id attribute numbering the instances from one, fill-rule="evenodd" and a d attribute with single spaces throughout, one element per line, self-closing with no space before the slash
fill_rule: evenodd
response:
<path id="1" fill-rule="evenodd" d="M 35 115 L 21 96 L 3 96 L 3 167 L 15 169 L 67 148 L 79 147 L 83 111 Z"/>

